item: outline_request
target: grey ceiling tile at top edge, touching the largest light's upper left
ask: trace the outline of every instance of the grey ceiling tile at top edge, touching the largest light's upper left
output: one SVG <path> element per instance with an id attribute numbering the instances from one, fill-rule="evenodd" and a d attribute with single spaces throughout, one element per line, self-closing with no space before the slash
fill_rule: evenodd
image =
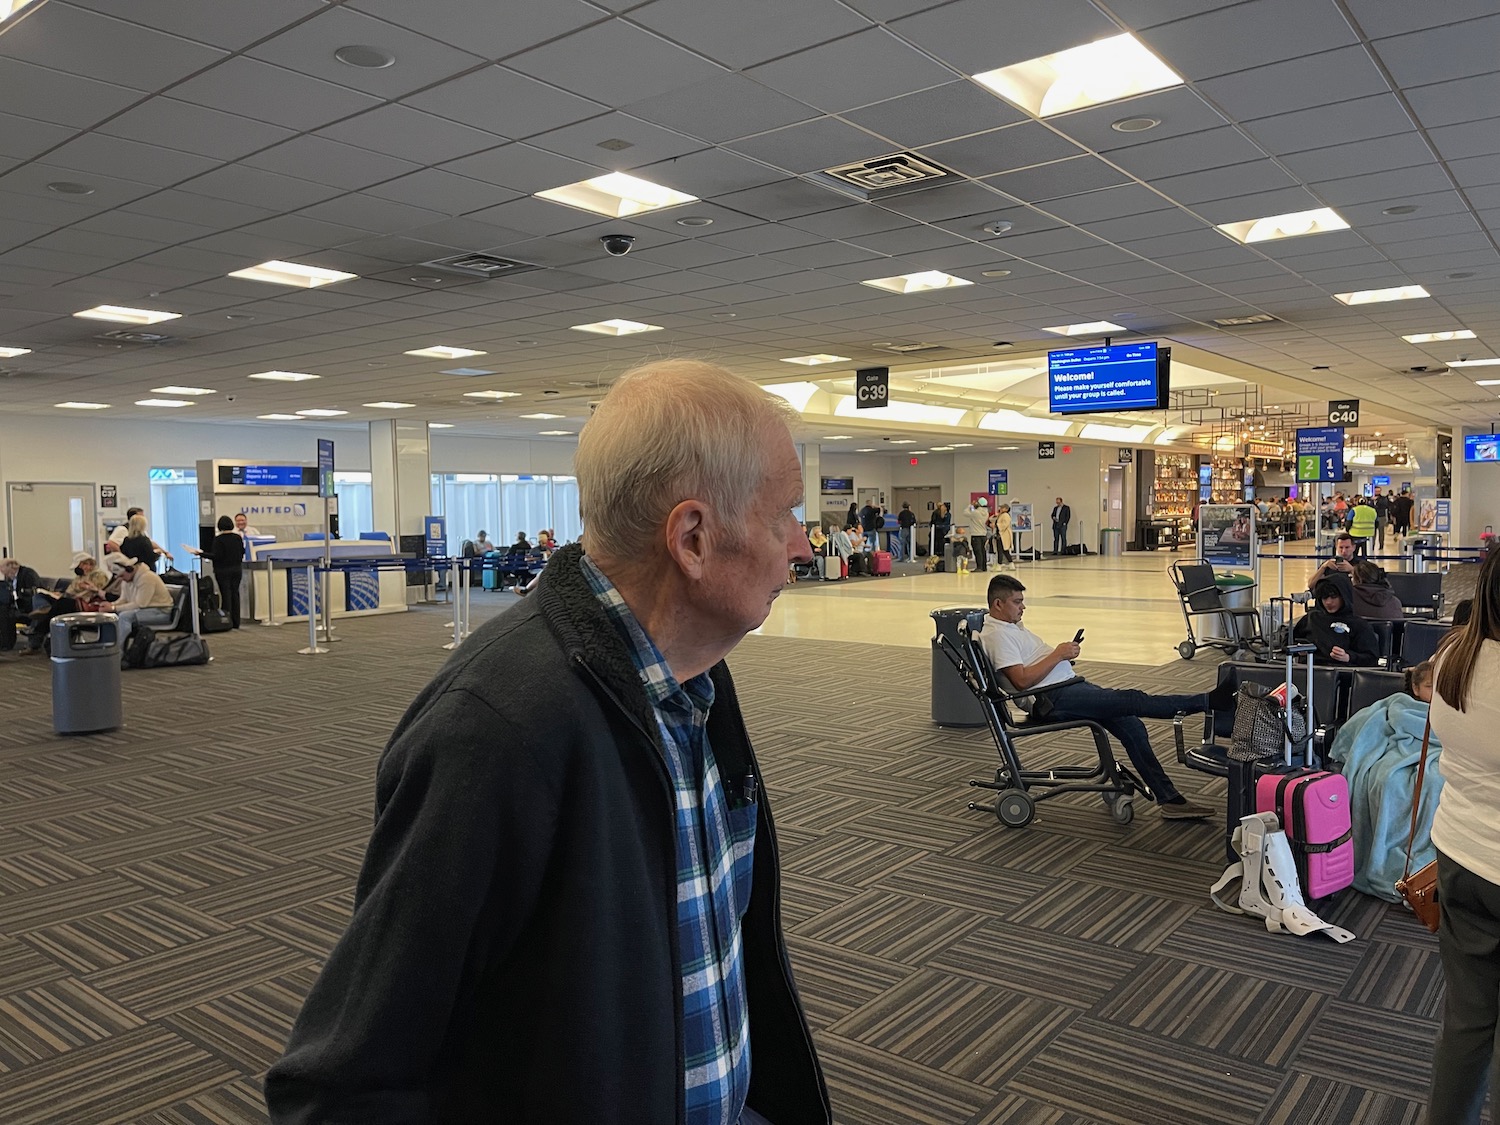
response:
<path id="1" fill-rule="evenodd" d="M 992 0 L 957 0 L 890 27 L 970 75 L 1119 34 L 1114 21 L 1083 0 L 1011 4 L 1004 18 L 996 18 Z"/>

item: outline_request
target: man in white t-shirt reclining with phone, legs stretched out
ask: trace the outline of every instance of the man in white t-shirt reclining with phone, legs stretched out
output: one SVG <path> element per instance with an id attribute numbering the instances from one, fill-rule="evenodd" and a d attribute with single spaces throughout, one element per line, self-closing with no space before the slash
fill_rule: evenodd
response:
<path id="1" fill-rule="evenodd" d="M 1022 624 L 1022 615 L 1026 612 L 1026 586 L 1010 574 L 996 574 L 990 579 L 987 597 L 990 615 L 984 620 L 980 642 L 994 669 L 1017 692 L 1060 684 L 1077 675 L 1071 662 L 1078 658 L 1082 645 L 1072 640 L 1048 645 Z M 1024 711 L 1032 711 L 1038 699 L 1052 705 L 1052 711 L 1046 716 L 1047 722 L 1092 718 L 1114 735 L 1130 754 L 1140 780 L 1150 789 L 1162 818 L 1202 820 L 1214 816 L 1212 808 L 1188 802 L 1172 784 L 1172 778 L 1150 748 L 1146 724 L 1140 722 L 1142 717 L 1172 718 L 1182 712 L 1208 711 L 1208 694 L 1154 696 L 1146 692 L 1124 692 L 1078 682 L 1017 702 Z"/>

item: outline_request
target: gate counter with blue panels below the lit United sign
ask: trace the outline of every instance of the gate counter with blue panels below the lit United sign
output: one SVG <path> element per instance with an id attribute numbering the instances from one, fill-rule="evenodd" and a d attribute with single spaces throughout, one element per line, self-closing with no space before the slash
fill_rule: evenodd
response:
<path id="1" fill-rule="evenodd" d="M 308 591 L 308 566 L 322 566 L 322 543 L 250 543 L 249 579 L 250 616 L 266 621 L 304 621 L 315 598 Z M 328 606 L 333 616 L 369 616 L 406 612 L 406 574 L 396 568 L 376 568 L 399 555 L 390 540 L 334 540 L 328 555 L 336 566 L 351 567 L 328 578 Z M 360 568 L 360 562 L 369 562 Z M 320 579 L 321 574 L 315 578 Z"/>

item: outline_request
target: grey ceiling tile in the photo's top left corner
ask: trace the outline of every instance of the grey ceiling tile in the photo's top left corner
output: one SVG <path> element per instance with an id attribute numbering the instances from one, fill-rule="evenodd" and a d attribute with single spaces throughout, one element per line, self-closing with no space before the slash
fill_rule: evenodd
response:
<path id="1" fill-rule="evenodd" d="M 6 27 L 0 56 L 135 90 L 159 90 L 225 52 L 69 4 L 45 4 Z"/>

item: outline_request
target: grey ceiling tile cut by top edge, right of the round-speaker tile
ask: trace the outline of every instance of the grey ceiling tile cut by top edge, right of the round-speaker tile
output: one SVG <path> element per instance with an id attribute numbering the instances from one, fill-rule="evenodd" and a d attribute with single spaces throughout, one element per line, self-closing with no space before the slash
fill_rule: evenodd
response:
<path id="1" fill-rule="evenodd" d="M 441 39 L 452 46 L 502 58 L 600 20 L 582 0 L 506 0 L 506 18 L 472 0 L 350 0 L 350 8 Z"/>

